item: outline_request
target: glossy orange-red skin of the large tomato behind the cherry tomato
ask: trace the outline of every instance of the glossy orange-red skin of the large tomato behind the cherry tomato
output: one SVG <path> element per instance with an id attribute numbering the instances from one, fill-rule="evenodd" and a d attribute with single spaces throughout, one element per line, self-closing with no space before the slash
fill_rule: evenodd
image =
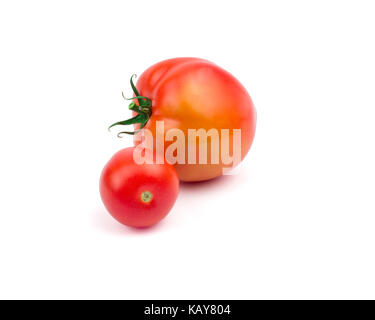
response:
<path id="1" fill-rule="evenodd" d="M 241 129 L 241 160 L 248 153 L 255 135 L 256 111 L 254 104 L 241 83 L 230 73 L 212 62 L 199 58 L 175 58 L 161 61 L 148 68 L 137 81 L 142 96 L 152 101 L 152 116 L 145 126 L 154 137 L 156 121 L 164 121 L 164 132 L 178 128 L 185 134 L 185 155 L 188 154 L 188 129 L 206 131 Z M 139 126 L 136 126 L 136 129 Z M 230 135 L 229 150 L 233 150 Z M 144 139 L 135 136 L 137 145 Z M 144 141 L 143 141 L 144 142 Z M 165 150 L 171 142 L 165 141 Z M 146 144 L 147 146 L 147 144 Z M 153 148 L 153 146 L 148 146 Z M 199 157 L 198 145 L 196 147 Z M 175 164 L 182 181 L 203 181 L 222 175 L 226 165 Z M 168 159 L 169 160 L 169 159 Z"/>

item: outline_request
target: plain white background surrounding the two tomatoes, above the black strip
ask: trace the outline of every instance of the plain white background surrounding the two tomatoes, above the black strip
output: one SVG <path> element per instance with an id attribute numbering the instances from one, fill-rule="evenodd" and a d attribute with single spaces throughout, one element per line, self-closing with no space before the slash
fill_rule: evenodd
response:
<path id="1" fill-rule="evenodd" d="M 2 1 L 0 298 L 375 298 L 373 1 Z M 196 56 L 258 111 L 147 230 L 98 192 L 131 74 Z"/>

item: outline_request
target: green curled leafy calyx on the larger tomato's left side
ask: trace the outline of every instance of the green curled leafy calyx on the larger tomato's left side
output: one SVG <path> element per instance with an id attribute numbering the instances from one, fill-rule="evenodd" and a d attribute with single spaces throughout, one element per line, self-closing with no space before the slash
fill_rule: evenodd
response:
<path id="1" fill-rule="evenodd" d="M 131 124 L 137 124 L 139 123 L 141 126 L 138 130 L 136 131 L 122 131 L 122 132 L 119 132 L 117 134 L 117 136 L 119 138 L 122 137 L 122 134 L 131 134 L 131 135 L 134 135 L 136 134 L 137 132 L 141 131 L 142 128 L 146 125 L 146 123 L 148 122 L 148 120 L 150 119 L 151 117 L 151 114 L 152 114 L 152 102 L 149 98 L 147 97 L 144 97 L 144 96 L 141 96 L 137 90 L 137 88 L 135 87 L 134 83 L 133 83 L 133 77 L 136 77 L 135 74 L 133 74 L 131 77 L 130 77 L 130 85 L 133 89 L 133 92 L 134 92 L 134 97 L 133 98 L 126 98 L 124 96 L 124 93 L 122 92 L 122 97 L 125 99 L 125 100 L 135 100 L 138 102 L 138 104 L 135 102 L 135 101 L 132 101 L 130 104 L 129 104 L 129 110 L 132 110 L 134 112 L 137 113 L 137 115 L 133 118 L 130 118 L 130 119 L 127 119 L 127 120 L 124 120 L 124 121 L 118 121 L 118 122 L 115 122 L 114 124 L 112 124 L 109 128 L 111 129 L 112 127 L 114 126 L 118 126 L 118 125 L 123 125 L 123 126 L 127 126 L 127 125 L 131 125 Z"/>

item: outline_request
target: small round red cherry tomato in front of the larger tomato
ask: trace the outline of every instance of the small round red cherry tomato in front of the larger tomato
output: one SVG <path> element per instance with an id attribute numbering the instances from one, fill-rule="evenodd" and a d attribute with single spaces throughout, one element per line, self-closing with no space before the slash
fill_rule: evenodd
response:
<path id="1" fill-rule="evenodd" d="M 120 150 L 109 160 L 100 177 L 100 195 L 108 212 L 120 223 L 149 227 L 172 209 L 179 180 L 168 163 L 136 164 L 133 151 L 134 147 Z M 150 193 L 152 198 L 145 198 Z"/>

